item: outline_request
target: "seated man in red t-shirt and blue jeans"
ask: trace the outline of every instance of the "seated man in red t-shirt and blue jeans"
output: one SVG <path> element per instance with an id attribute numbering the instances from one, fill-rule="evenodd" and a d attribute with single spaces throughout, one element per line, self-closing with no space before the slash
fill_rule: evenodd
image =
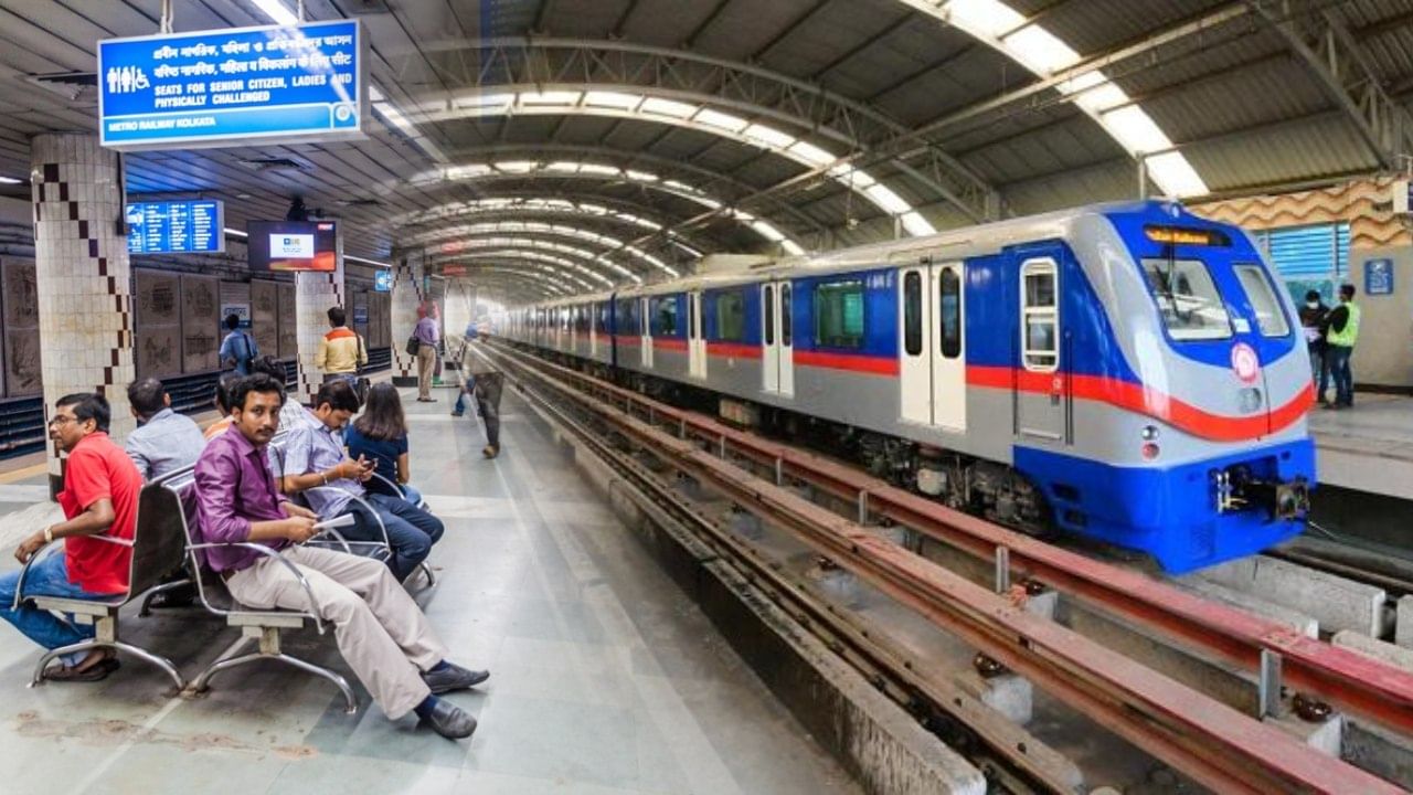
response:
<path id="1" fill-rule="evenodd" d="M 127 453 L 107 437 L 110 416 L 102 395 L 66 395 L 55 403 L 49 437 L 69 454 L 59 492 L 59 506 L 68 521 L 24 539 L 14 556 L 28 563 L 45 545 L 58 539 L 65 542 L 62 552 L 30 566 L 24 579 L 25 596 L 99 598 L 127 593 L 143 475 Z M 114 543 L 119 539 L 123 543 Z M 93 627 L 65 621 L 47 610 L 10 610 L 18 583 L 20 571 L 0 576 L 0 618 L 16 629 L 48 649 L 93 637 Z M 64 665 L 48 671 L 47 679 L 97 682 L 117 669 L 110 649 L 75 652 L 61 661 Z"/>

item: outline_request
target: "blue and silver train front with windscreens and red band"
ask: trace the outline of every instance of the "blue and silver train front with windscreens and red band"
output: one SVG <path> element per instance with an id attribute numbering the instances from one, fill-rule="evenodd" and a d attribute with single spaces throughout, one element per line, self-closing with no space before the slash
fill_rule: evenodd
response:
<path id="1" fill-rule="evenodd" d="M 1187 571 L 1299 535 L 1314 388 L 1287 290 L 1236 226 L 1166 202 L 1106 221 L 1129 256 L 1101 246 L 1111 256 L 1087 270 L 1116 327 L 1108 392 L 1128 410 L 1099 444 L 1132 474 L 1115 481 L 1125 516 L 1109 540 Z M 1085 530 L 1106 535 L 1099 525 Z"/>

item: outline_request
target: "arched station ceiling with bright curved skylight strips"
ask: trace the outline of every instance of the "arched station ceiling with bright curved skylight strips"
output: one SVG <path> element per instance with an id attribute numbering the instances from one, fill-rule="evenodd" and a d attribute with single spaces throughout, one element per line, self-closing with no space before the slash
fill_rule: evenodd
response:
<path id="1" fill-rule="evenodd" d="M 172 0 L 174 30 L 294 0 Z M 96 132 L 95 42 L 161 0 L 0 0 L 0 192 Z M 1139 192 L 1407 167 L 1413 0 L 308 0 L 372 42 L 357 143 L 126 156 L 227 225 L 294 195 L 346 250 L 425 249 L 523 300 Z"/>

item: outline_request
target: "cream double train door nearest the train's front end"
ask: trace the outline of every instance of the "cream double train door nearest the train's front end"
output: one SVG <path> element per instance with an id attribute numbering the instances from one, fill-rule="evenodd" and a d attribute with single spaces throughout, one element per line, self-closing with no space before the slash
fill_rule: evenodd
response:
<path id="1" fill-rule="evenodd" d="M 959 262 L 901 272 L 899 279 L 899 340 L 903 420 L 950 430 L 966 429 L 966 345 Z"/>

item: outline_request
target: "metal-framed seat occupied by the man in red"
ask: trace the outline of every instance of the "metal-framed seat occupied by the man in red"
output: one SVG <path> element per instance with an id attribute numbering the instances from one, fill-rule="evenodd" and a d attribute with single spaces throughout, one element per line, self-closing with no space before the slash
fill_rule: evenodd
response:
<path id="1" fill-rule="evenodd" d="M 177 689 L 181 690 L 185 686 L 185 682 L 170 659 L 140 646 L 126 644 L 117 637 L 117 618 L 122 608 L 137 597 L 141 597 L 154 586 L 160 584 L 164 577 L 181 569 L 187 546 L 185 521 L 182 516 L 181 501 L 167 488 L 162 488 L 158 484 L 148 484 L 143 487 L 143 491 L 137 498 L 137 528 L 133 533 L 133 540 L 129 542 L 106 535 L 88 538 L 102 543 L 116 543 L 131 547 L 133 560 L 129 564 L 127 593 L 93 600 L 38 594 L 27 596 L 24 593 L 24 580 L 30 573 L 30 567 L 34 566 L 41 556 L 48 556 L 58 549 L 58 546 L 55 543 L 48 543 L 35 552 L 20 571 L 20 583 L 16 586 L 13 607 L 18 610 L 23 605 L 30 604 L 40 610 L 69 614 L 78 624 L 93 625 L 95 635 L 88 641 L 52 649 L 41 656 L 38 665 L 34 668 L 34 678 L 30 685 L 41 685 L 44 682 L 44 672 L 49 662 L 59 655 L 105 648 L 127 652 L 161 668 L 168 676 L 172 678 L 172 682 L 177 683 Z"/>

